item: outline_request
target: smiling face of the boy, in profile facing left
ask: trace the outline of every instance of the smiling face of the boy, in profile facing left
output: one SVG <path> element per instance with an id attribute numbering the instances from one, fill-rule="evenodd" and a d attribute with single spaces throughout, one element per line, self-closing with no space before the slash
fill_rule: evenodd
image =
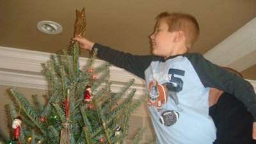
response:
<path id="1" fill-rule="evenodd" d="M 156 23 L 155 31 L 150 35 L 152 53 L 156 56 L 168 58 L 172 56 L 175 39 L 175 32 L 168 31 L 169 26 L 165 19 L 159 19 Z"/>

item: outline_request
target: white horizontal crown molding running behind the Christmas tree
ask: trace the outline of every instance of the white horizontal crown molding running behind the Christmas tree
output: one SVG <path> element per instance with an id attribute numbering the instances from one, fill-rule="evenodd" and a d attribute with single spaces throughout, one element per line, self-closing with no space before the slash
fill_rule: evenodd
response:
<path id="1" fill-rule="evenodd" d="M 0 47 L 0 84 L 6 86 L 17 86 L 25 88 L 47 89 L 47 81 L 42 76 L 41 63 L 47 63 L 51 53 L 28 51 L 10 47 Z M 80 67 L 86 64 L 88 58 L 79 58 Z M 95 60 L 96 67 L 104 63 L 102 60 Z M 111 90 L 118 92 L 127 82 L 134 79 L 131 89 L 137 90 L 136 95 L 145 93 L 145 82 L 143 79 L 134 76 L 122 68 L 111 66 L 110 80 Z M 129 90 L 128 92 L 130 92 Z"/>

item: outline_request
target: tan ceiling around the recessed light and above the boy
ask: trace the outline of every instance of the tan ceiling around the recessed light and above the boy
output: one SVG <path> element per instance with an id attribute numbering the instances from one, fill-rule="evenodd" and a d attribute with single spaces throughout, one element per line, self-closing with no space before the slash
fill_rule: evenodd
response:
<path id="1" fill-rule="evenodd" d="M 86 38 L 133 54 L 150 54 L 148 36 L 155 17 L 163 11 L 194 15 L 200 25 L 200 38 L 191 52 L 205 52 L 256 17 L 255 0 L 1 0 L 0 46 L 41 52 L 58 52 L 68 47 L 76 10 L 85 8 Z M 42 20 L 58 22 L 58 35 L 36 28 Z M 89 52 L 82 51 L 88 57 Z M 256 65 L 244 69 L 246 79 L 256 80 Z"/>

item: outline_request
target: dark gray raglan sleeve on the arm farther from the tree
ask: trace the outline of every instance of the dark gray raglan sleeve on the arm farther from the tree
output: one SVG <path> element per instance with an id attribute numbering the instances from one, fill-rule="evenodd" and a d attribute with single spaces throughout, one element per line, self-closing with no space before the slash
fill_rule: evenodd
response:
<path id="1" fill-rule="evenodd" d="M 201 54 L 188 54 L 200 81 L 205 87 L 218 88 L 243 102 L 256 121 L 256 94 L 252 84 L 242 77 L 206 60 Z"/>

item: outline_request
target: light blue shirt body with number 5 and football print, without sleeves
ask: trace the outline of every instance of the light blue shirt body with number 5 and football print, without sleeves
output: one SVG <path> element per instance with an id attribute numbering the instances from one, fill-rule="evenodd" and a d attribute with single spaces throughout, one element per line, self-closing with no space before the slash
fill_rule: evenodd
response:
<path id="1" fill-rule="evenodd" d="M 201 83 L 186 57 L 152 61 L 145 70 L 145 80 L 159 144 L 212 144 L 216 128 L 209 116 L 209 88 Z"/>

